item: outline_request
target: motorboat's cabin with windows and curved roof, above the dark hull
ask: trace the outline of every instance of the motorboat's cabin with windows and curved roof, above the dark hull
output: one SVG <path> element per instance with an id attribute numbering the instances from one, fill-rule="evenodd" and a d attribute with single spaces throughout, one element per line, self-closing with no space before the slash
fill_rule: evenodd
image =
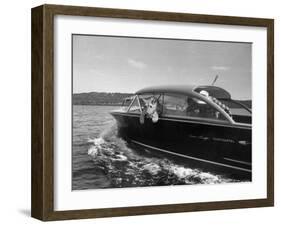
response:
<path id="1" fill-rule="evenodd" d="M 126 98 L 126 112 L 159 117 L 190 118 L 231 124 L 251 124 L 251 109 L 219 87 L 200 86 L 191 91 L 144 90 Z M 153 115 L 154 114 L 154 115 Z M 152 117 L 153 116 L 153 117 Z M 156 116 L 155 116 L 156 117 Z"/>

